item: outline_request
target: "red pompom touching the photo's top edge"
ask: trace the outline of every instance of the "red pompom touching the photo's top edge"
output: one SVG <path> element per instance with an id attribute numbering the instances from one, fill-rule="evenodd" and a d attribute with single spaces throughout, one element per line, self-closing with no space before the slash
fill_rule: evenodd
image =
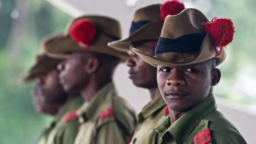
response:
<path id="1" fill-rule="evenodd" d="M 182 10 L 185 9 L 185 5 L 183 2 L 180 2 L 178 0 L 170 0 L 165 2 L 164 4 L 161 4 L 160 10 L 161 10 L 161 18 L 164 20 L 166 16 L 168 15 L 176 15 L 182 12 Z"/>

